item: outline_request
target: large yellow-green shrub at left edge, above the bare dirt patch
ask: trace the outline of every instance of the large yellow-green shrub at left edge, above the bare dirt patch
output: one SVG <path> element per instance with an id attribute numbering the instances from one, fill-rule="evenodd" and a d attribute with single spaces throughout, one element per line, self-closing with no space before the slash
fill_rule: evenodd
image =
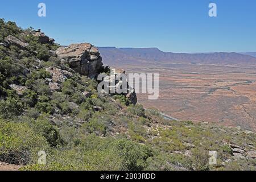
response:
<path id="1" fill-rule="evenodd" d="M 46 151 L 46 138 L 37 134 L 27 123 L 0 119 L 0 161 L 13 164 L 32 162 L 37 152 Z"/>

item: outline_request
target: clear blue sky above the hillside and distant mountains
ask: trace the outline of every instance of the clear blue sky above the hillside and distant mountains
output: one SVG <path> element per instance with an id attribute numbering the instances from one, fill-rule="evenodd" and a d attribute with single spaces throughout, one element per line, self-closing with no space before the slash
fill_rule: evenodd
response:
<path id="1" fill-rule="evenodd" d="M 46 17 L 38 4 L 46 4 Z M 210 17 L 216 3 L 217 17 Z M 61 45 L 256 52 L 255 0 L 1 0 L 0 18 L 41 28 Z"/>

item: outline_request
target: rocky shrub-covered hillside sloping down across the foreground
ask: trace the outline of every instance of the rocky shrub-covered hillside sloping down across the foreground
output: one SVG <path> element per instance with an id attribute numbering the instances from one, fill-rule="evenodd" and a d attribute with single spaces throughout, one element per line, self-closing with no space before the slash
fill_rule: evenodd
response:
<path id="1" fill-rule="evenodd" d="M 0 170 L 256 169 L 251 131 L 168 121 L 135 96 L 98 93 L 94 78 L 109 72 L 101 54 L 0 19 Z"/>

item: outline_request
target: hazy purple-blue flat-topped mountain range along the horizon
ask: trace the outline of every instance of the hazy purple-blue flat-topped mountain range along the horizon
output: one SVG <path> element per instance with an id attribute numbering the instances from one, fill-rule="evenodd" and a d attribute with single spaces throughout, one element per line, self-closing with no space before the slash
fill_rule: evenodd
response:
<path id="1" fill-rule="evenodd" d="M 143 64 L 253 64 L 256 53 L 214 52 L 214 53 L 173 53 L 158 48 L 116 48 L 99 47 L 106 65 Z"/>

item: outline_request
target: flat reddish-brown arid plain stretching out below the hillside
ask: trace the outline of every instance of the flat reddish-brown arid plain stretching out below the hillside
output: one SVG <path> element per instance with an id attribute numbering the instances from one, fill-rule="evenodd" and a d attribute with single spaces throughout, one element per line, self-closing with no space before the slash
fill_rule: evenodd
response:
<path id="1" fill-rule="evenodd" d="M 158 100 L 138 94 L 139 102 L 147 108 L 155 107 L 181 120 L 256 131 L 256 66 L 151 64 L 123 68 L 159 73 Z"/>

